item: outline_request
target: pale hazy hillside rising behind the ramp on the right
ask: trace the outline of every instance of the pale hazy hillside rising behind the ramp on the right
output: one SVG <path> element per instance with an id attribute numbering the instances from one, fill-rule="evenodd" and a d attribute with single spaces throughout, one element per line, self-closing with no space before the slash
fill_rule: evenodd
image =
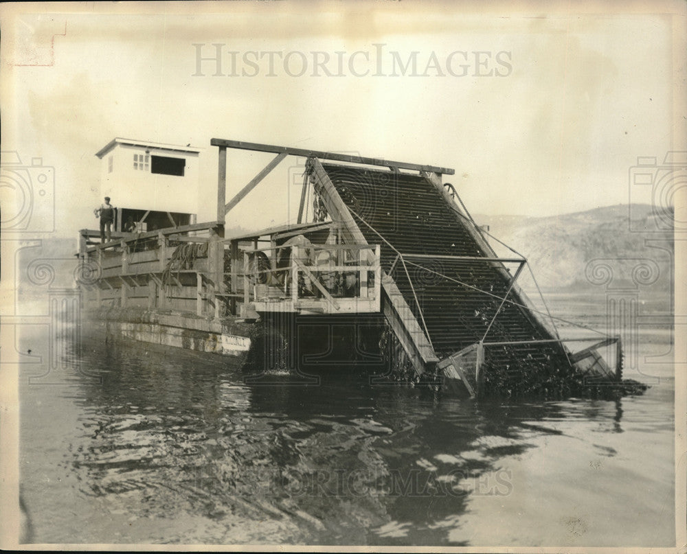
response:
<path id="1" fill-rule="evenodd" d="M 542 288 L 598 289 L 598 282 L 591 282 L 594 277 L 590 281 L 585 269 L 601 271 L 600 265 L 607 264 L 613 271 L 613 287 L 634 287 L 636 279 L 649 286 L 644 283 L 655 277 L 651 286 L 668 290 L 673 233 L 661 230 L 664 223 L 650 205 L 609 206 L 545 218 L 479 214 L 473 218 L 528 258 Z M 499 255 L 507 255 L 508 250 L 490 242 Z M 637 273 L 641 271 L 644 275 Z M 596 277 L 602 280 L 598 272 Z"/>

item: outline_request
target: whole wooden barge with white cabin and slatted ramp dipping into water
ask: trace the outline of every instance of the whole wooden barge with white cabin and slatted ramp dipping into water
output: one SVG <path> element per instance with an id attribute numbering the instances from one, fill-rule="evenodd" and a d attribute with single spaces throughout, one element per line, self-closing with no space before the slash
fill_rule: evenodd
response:
<path id="1" fill-rule="evenodd" d="M 224 139 L 211 145 L 218 186 L 208 222 L 184 211 L 178 196 L 187 185 L 174 189 L 197 176 L 199 149 L 115 139 L 98 152 L 115 205 L 137 194 L 131 171 L 153 179 L 158 203 L 128 200 L 110 242 L 80 232 L 86 314 L 108 332 L 242 357 L 252 339 L 262 370 L 280 364 L 294 373 L 340 365 L 348 353 L 348 362 L 375 367 L 380 382 L 425 381 L 473 397 L 620 382 L 619 339 L 559 336 L 556 318 L 517 285 L 527 260 L 499 257 L 444 183 L 453 170 Z M 227 150 L 275 154 L 228 201 Z M 225 233 L 227 213 L 286 157 L 302 161 L 297 222 Z M 130 175 L 118 185 L 122 163 Z"/>

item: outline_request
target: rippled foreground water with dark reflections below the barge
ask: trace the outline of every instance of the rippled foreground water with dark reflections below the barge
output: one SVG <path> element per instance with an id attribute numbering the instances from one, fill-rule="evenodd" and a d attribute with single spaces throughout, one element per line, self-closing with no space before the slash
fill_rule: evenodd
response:
<path id="1" fill-rule="evenodd" d="M 144 343 L 80 353 L 52 376 L 71 386 L 22 381 L 36 542 L 674 541 L 670 381 L 502 404 L 353 376 L 247 384 L 225 358 Z"/>

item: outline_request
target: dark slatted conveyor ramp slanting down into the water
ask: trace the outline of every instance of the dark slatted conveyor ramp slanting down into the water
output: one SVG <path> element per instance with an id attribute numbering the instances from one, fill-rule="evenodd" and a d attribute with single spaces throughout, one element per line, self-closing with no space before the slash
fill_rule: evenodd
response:
<path id="1" fill-rule="evenodd" d="M 317 159 L 308 170 L 346 239 L 381 244 L 385 315 L 418 373 L 442 360 L 444 373 L 458 376 L 459 358 L 474 364 L 476 357 L 482 374 L 507 388 L 523 373 L 570 371 L 569 352 L 530 310 L 515 272 L 497 259 L 436 176 Z M 476 388 L 479 376 L 473 371 L 468 380 L 468 388 Z"/>

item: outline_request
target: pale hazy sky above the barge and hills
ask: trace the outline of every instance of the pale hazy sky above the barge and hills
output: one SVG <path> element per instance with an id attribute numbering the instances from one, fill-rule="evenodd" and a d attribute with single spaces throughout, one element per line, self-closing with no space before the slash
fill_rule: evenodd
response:
<path id="1" fill-rule="evenodd" d="M 5 4 L 2 150 L 54 167 L 60 235 L 95 228 L 94 154 L 113 137 L 205 148 L 199 194 L 210 212 L 212 137 L 455 168 L 446 180 L 473 213 L 627 203 L 637 157 L 663 161 L 684 126 L 674 19 L 658 13 L 684 6 L 654 5 Z M 219 71 L 197 59 L 215 56 L 214 44 Z M 230 151 L 227 199 L 269 159 Z M 280 168 L 229 226 L 295 218 L 300 172 Z M 51 217 L 41 200 L 36 217 Z"/>

